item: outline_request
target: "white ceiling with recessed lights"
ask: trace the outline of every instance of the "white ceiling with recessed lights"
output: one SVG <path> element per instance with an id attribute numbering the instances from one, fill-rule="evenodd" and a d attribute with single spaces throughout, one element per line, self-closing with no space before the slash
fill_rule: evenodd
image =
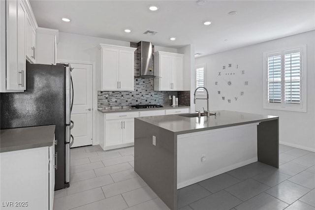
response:
<path id="1" fill-rule="evenodd" d="M 214 54 L 315 30 L 315 0 L 30 0 L 39 27 Z M 158 5 L 150 11 L 149 5 Z M 236 15 L 228 15 L 237 11 Z M 62 17 L 71 19 L 65 23 Z M 210 20 L 210 26 L 203 21 Z M 127 34 L 124 30 L 131 29 Z M 143 34 L 146 30 L 156 35 Z M 169 38 L 175 36 L 175 41 Z M 227 40 L 225 40 L 227 39 Z"/>

